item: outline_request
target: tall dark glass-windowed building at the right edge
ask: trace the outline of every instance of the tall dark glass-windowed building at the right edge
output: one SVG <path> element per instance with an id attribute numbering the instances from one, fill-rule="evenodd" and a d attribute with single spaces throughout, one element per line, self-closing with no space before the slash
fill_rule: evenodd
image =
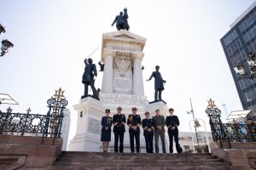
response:
<path id="1" fill-rule="evenodd" d="M 256 52 L 256 2 L 230 25 L 230 31 L 221 38 L 220 42 L 230 65 L 243 109 L 256 111 L 256 81 L 244 79 L 234 70 L 237 64 L 243 64 L 246 65 L 248 73 L 247 54 Z"/>

